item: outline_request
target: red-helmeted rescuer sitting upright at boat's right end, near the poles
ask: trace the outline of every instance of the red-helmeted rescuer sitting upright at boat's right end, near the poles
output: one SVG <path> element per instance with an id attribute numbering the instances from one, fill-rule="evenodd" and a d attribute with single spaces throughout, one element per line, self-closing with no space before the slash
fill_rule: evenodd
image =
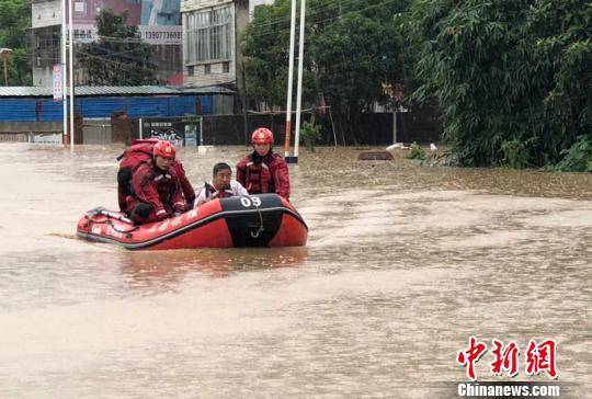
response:
<path id="1" fill-rule="evenodd" d="M 289 173 L 284 159 L 273 152 L 273 133 L 260 127 L 251 137 L 253 152 L 237 164 L 237 181 L 249 194 L 275 193 L 289 200 Z"/>

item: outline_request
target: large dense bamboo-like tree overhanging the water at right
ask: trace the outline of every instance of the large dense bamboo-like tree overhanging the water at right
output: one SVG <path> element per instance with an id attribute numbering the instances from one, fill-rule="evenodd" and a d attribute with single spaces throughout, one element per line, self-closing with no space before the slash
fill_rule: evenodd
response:
<path id="1" fill-rule="evenodd" d="M 423 83 L 463 166 L 540 167 L 589 135 L 587 0 L 417 0 L 412 37 Z"/>

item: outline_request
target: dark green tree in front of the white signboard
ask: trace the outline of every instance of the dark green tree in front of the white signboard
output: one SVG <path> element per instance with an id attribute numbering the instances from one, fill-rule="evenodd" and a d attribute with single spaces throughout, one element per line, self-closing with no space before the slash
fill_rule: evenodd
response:
<path id="1" fill-rule="evenodd" d="M 138 27 L 126 24 L 127 11 L 104 9 L 96 15 L 99 41 L 83 44 L 77 56 L 91 86 L 157 84 L 157 67 L 149 61 L 150 45 Z"/>

